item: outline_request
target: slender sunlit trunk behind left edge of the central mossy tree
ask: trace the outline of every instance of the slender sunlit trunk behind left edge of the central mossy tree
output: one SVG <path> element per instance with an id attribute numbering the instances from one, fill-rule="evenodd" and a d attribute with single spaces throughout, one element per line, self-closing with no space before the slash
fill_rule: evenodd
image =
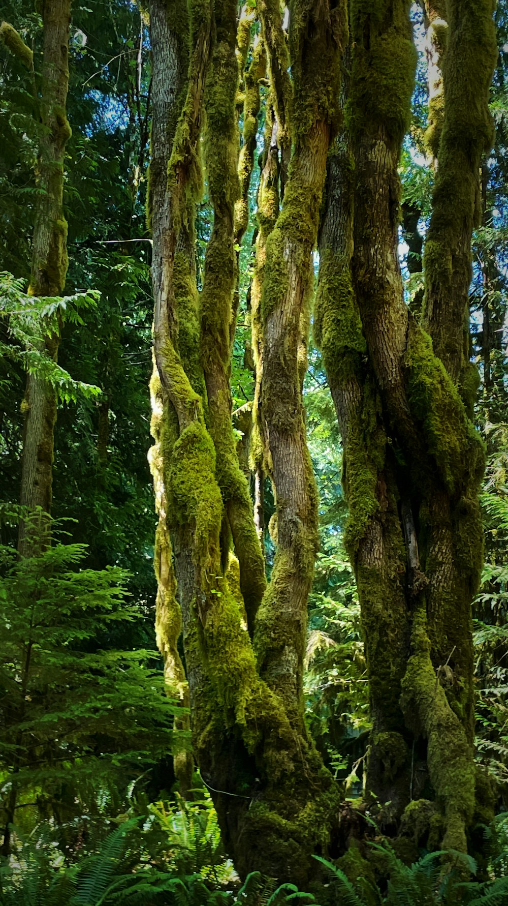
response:
<path id="1" fill-rule="evenodd" d="M 177 119 L 185 96 L 188 66 L 188 39 L 186 36 L 187 2 L 170 4 L 168 0 L 151 0 L 150 42 L 153 60 L 152 78 L 152 131 L 151 159 L 149 166 L 149 223 L 152 226 L 152 284 L 154 296 L 163 292 L 171 279 L 166 274 L 168 255 L 171 254 L 171 209 L 168 192 L 168 163 L 177 128 Z M 183 22 L 183 28 L 182 28 Z M 179 30 L 176 27 L 179 26 Z M 181 251 L 185 255 L 185 251 Z M 194 249 L 190 250 L 192 256 Z M 182 630 L 180 603 L 177 600 L 176 567 L 170 539 L 171 519 L 168 513 L 168 495 L 164 472 L 164 452 L 167 455 L 174 432 L 175 412 L 168 393 L 164 390 L 157 363 L 154 359 L 150 381 L 152 418 L 150 430 L 155 441 L 149 451 L 150 470 L 153 477 L 158 526 L 156 530 L 154 567 L 157 578 L 156 637 L 158 649 L 164 658 L 164 676 L 170 695 L 180 699 L 183 708 L 189 708 L 189 692 L 184 665 L 178 652 L 178 638 Z M 178 729 L 190 728 L 189 716 L 184 713 L 176 721 Z M 193 757 L 182 749 L 173 759 L 175 776 L 180 793 L 189 796 L 192 788 Z"/>

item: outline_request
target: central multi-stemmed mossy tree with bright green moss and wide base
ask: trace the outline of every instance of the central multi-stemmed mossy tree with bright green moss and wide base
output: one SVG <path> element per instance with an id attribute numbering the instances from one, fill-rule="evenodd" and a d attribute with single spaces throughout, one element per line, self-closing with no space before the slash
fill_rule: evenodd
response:
<path id="1" fill-rule="evenodd" d="M 238 217 L 235 220 L 235 203 L 245 198 L 246 188 L 243 184 L 240 194 L 235 0 L 189 4 L 187 97 L 166 188 L 158 202 L 153 186 L 150 194 L 154 352 L 160 382 L 152 384 L 158 407 L 156 473 L 163 477 L 166 525 L 174 548 L 172 561 L 168 556 L 166 562 L 172 562 L 177 580 L 176 595 L 174 580 L 167 583 L 170 610 L 159 610 L 164 625 L 159 622 L 158 631 L 161 637 L 173 632 L 178 599 L 196 759 L 212 790 L 225 844 L 238 871 L 245 874 L 255 868 L 296 881 L 312 872 L 311 853 L 326 848 L 338 810 L 338 791 L 303 722 L 302 654 L 316 504 L 301 393 L 311 253 L 337 117 L 345 15 L 342 6 L 312 7 L 299 3 L 291 10 L 293 91 L 302 125 L 294 132 L 284 207 L 278 219 L 278 211 L 273 217 L 273 245 L 266 248 L 264 266 L 260 331 L 268 349 L 268 384 L 274 386 L 284 334 L 283 367 L 289 382 L 275 407 L 264 396 L 279 509 L 277 565 L 266 592 L 252 501 L 235 450 L 229 390 L 235 239 L 241 227 Z M 167 61 L 155 45 L 153 65 L 154 81 L 158 66 L 161 78 L 167 76 Z M 247 87 L 248 79 L 249 73 Z M 246 98 L 246 104 L 252 103 L 247 110 L 254 110 L 255 120 L 255 85 L 251 97 L 252 101 Z M 201 186 L 203 110 L 214 226 L 198 297 L 188 252 L 194 248 L 193 208 Z M 245 126 L 252 133 L 255 122 Z M 250 135 L 244 159 L 252 147 Z M 247 160 L 247 170 L 251 166 Z M 240 177 L 248 183 L 249 173 L 242 168 Z M 300 204 L 309 210 L 301 229 L 293 223 Z M 156 214 L 154 205 L 164 207 L 164 232 L 156 228 L 162 215 Z M 281 248 L 287 262 L 283 273 Z"/>

